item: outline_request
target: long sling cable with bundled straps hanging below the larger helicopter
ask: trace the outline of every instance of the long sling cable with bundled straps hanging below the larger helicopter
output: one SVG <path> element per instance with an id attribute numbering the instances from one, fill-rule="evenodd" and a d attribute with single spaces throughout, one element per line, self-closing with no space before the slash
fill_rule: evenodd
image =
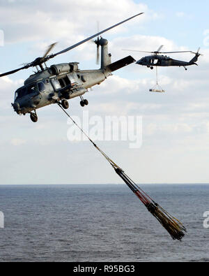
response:
<path id="1" fill-rule="evenodd" d="M 134 194 L 140 199 L 140 201 L 146 206 L 147 210 L 162 224 L 162 226 L 169 232 L 171 235 L 171 238 L 173 240 L 182 240 L 185 236 L 185 232 L 187 232 L 187 229 L 181 224 L 178 219 L 175 217 L 172 217 L 169 215 L 169 213 L 164 210 L 159 204 L 155 203 L 148 194 L 146 194 L 144 191 L 141 190 L 141 188 L 134 183 L 133 180 L 128 177 L 124 170 L 120 168 L 114 161 L 112 161 L 107 154 L 102 152 L 102 150 L 87 136 L 87 134 L 81 129 L 81 127 L 70 117 L 68 112 L 66 112 L 63 107 L 61 106 L 61 103 L 58 103 L 59 107 L 65 112 L 65 114 L 71 119 L 73 124 L 75 124 L 82 133 L 84 133 L 84 136 L 90 140 L 90 142 L 93 144 L 93 146 L 104 156 L 105 159 L 109 162 L 109 164 L 114 168 L 115 172 L 121 179 L 127 184 L 127 186 L 134 192 Z"/>

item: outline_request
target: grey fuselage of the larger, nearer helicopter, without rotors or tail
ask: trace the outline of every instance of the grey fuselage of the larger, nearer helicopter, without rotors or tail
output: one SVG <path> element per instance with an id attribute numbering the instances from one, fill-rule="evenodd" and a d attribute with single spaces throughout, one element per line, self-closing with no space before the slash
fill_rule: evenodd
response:
<path id="1" fill-rule="evenodd" d="M 109 75 L 108 69 L 80 71 L 77 63 L 57 64 L 31 75 L 15 92 L 12 105 L 17 114 L 25 115 L 63 99 L 82 96 Z"/>

